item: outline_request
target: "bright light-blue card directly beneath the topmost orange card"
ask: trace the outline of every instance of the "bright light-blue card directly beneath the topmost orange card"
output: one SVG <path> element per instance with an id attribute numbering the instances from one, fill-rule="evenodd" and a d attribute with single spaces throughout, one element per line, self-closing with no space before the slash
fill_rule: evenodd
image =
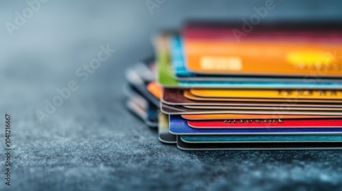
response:
<path id="1" fill-rule="evenodd" d="M 296 77 L 296 76 L 256 76 L 256 75 L 237 75 L 237 74 L 230 74 L 230 75 L 210 75 L 210 74 L 196 74 L 192 71 L 187 70 L 185 64 L 185 57 L 184 57 L 184 46 L 183 40 L 180 35 L 173 35 L 170 39 L 170 57 L 171 57 L 171 65 L 173 68 L 174 77 L 180 80 L 180 83 L 183 85 L 188 85 L 189 81 L 203 81 L 203 83 L 199 83 L 199 85 L 206 85 L 212 86 L 214 82 L 223 81 L 224 84 L 227 82 L 238 82 L 237 84 L 227 84 L 227 85 L 238 85 L 241 84 L 239 82 L 255 82 L 262 83 L 262 82 L 279 82 L 281 85 L 283 82 L 292 82 L 292 83 L 299 83 L 299 84 L 291 84 L 289 86 L 293 87 L 295 85 L 301 85 L 303 82 L 305 84 L 312 83 L 342 83 L 342 78 L 317 78 L 315 76 L 305 76 L 305 78 Z M 326 85 L 326 84 L 324 84 Z M 340 84 L 341 85 L 341 84 Z"/>

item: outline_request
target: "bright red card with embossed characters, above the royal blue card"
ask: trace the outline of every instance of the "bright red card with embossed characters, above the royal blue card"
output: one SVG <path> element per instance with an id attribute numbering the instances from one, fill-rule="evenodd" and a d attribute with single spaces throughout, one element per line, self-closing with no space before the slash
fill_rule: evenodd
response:
<path id="1" fill-rule="evenodd" d="M 342 119 L 188 120 L 192 128 L 341 128 Z"/>

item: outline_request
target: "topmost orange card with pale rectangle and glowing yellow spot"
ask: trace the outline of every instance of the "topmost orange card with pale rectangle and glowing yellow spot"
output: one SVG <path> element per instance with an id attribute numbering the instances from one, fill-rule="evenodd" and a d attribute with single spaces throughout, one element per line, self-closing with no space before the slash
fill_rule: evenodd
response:
<path id="1" fill-rule="evenodd" d="M 192 33 L 201 31 L 185 28 L 187 69 L 202 74 L 342 77 L 341 31 L 252 31 L 240 42 L 232 31 L 193 38 Z"/>

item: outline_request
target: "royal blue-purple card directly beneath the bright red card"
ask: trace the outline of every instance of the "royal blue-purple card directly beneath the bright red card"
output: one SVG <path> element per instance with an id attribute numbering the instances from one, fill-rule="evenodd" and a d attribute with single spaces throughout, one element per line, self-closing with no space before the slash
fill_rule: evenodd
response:
<path id="1" fill-rule="evenodd" d="M 342 134 L 342 128 L 229 128 L 229 129 L 196 129 L 187 125 L 187 119 L 181 115 L 170 115 L 171 134 Z"/>

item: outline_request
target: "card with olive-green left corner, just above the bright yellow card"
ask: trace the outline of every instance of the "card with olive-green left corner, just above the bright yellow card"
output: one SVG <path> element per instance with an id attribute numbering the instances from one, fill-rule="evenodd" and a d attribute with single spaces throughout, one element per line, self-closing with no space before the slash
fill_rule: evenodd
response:
<path id="1" fill-rule="evenodd" d="M 342 83 L 321 82 L 225 82 L 177 80 L 174 78 L 169 53 L 170 33 L 157 36 L 155 48 L 157 52 L 157 82 L 163 87 L 180 88 L 235 88 L 235 89 L 342 89 Z"/>

